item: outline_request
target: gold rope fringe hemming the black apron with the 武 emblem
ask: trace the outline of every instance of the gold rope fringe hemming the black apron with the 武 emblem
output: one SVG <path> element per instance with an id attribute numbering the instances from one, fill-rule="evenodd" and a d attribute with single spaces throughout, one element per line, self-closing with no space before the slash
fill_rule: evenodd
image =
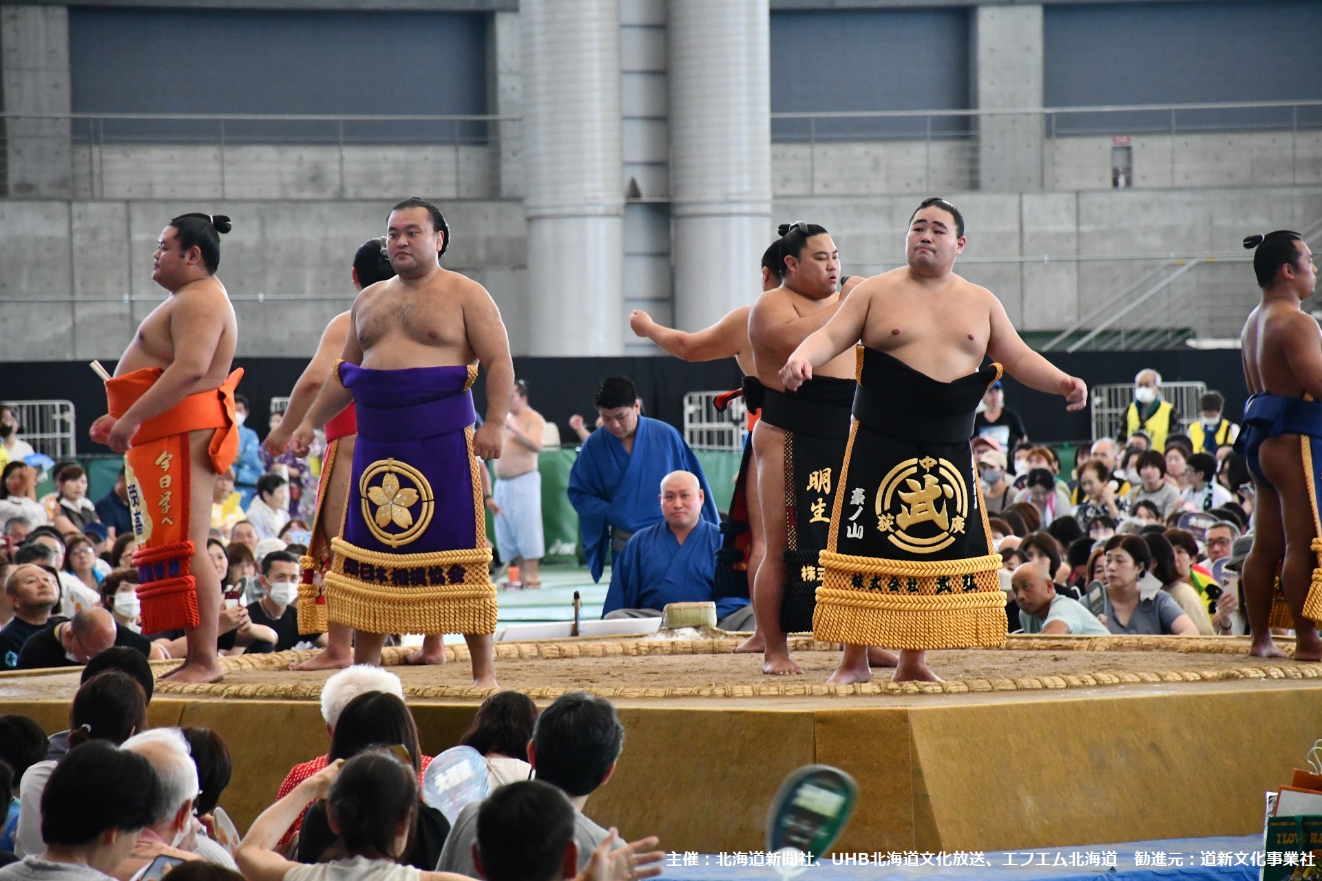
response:
<path id="1" fill-rule="evenodd" d="M 998 553 L 887 560 L 822 551 L 820 559 L 824 577 L 813 613 L 818 639 L 923 650 L 990 649 L 1005 642 Z M 961 582 L 969 576 L 974 589 L 965 592 Z M 952 585 L 952 579 L 958 582 Z"/>

